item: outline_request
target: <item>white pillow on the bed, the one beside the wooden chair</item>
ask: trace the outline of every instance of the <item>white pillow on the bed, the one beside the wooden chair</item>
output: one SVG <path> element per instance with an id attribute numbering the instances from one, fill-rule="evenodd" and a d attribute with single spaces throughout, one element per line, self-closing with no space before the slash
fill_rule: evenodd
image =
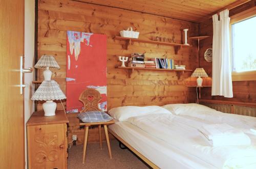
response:
<path id="1" fill-rule="evenodd" d="M 150 115 L 150 114 L 171 114 L 167 109 L 160 106 L 123 106 L 109 110 L 110 116 L 119 120 L 126 121 L 131 117 Z"/>

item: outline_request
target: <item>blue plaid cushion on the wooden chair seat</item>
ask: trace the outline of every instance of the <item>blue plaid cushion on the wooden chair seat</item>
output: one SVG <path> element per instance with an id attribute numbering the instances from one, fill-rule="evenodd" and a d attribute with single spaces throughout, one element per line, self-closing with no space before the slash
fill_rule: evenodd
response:
<path id="1" fill-rule="evenodd" d="M 86 111 L 77 116 L 84 123 L 108 122 L 113 118 L 103 111 Z"/>

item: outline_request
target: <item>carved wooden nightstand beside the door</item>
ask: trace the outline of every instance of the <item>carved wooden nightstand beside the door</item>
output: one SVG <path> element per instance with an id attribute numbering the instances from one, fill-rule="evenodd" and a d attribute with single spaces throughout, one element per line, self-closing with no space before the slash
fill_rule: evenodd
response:
<path id="1" fill-rule="evenodd" d="M 49 117 L 33 113 L 27 122 L 29 168 L 67 168 L 67 123 L 63 110 Z"/>

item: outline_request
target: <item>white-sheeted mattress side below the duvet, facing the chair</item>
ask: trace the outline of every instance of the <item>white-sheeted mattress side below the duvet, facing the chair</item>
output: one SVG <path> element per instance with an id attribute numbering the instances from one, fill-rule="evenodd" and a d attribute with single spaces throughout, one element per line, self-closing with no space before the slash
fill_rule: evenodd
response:
<path id="1" fill-rule="evenodd" d="M 202 159 L 146 133 L 129 122 L 115 121 L 116 123 L 109 126 L 109 129 L 160 168 L 216 168 Z"/>

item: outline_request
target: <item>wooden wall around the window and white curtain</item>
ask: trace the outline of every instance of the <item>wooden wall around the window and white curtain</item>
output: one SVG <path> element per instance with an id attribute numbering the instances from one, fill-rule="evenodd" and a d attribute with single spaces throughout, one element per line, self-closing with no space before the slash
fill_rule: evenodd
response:
<path id="1" fill-rule="evenodd" d="M 229 16 L 238 14 L 244 10 L 250 9 L 256 5 L 256 1 L 250 1 L 229 11 Z M 200 67 L 203 67 L 209 76 L 212 77 L 212 63 L 204 60 L 204 52 L 207 48 L 212 48 L 212 19 L 205 20 L 200 24 L 200 36 L 210 36 L 200 42 Z M 202 88 L 202 99 L 228 100 L 238 102 L 256 102 L 256 81 L 233 81 L 233 98 L 222 96 L 211 96 L 211 88 Z"/>

